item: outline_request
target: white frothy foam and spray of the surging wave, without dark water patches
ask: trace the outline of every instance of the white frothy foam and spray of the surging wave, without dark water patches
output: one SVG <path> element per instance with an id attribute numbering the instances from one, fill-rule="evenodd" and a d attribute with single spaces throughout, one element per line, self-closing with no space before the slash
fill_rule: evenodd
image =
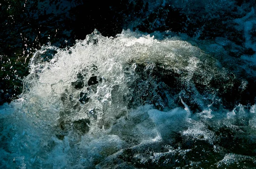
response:
<path id="1" fill-rule="evenodd" d="M 44 58 L 46 54 L 48 58 Z M 195 73 L 202 75 L 201 82 L 206 85 L 215 74 L 227 76 L 227 70 L 221 68 L 216 59 L 179 37 L 160 41 L 149 35 L 123 31 L 114 39 L 94 31 L 68 50 L 54 46 L 38 50 L 30 60 L 30 74 L 24 79 L 20 99 L 0 107 L 0 137 L 5 145 L 0 149 L 2 166 L 24 169 L 121 167 L 125 162 L 119 155 L 125 155 L 128 148 L 137 154 L 127 158 L 138 159 L 142 164 L 151 159 L 161 166 L 171 163 L 167 158 L 161 163 L 160 157 L 166 154 L 179 152 L 182 157 L 192 151 L 175 146 L 175 135 L 213 145 L 213 150 L 223 157 L 216 160 L 215 165 L 235 163 L 229 159 L 253 161 L 253 157 L 227 153 L 225 147 L 216 144 L 219 138 L 208 126 L 224 125 L 235 130 L 239 129 L 236 122 L 243 123 L 241 119 L 244 119 L 249 122 L 247 130 L 255 134 L 255 105 L 249 110 L 241 104 L 233 111 L 221 106 L 212 110 L 214 94 L 205 96 L 212 100 L 211 104 L 205 104 L 203 96 L 195 91 L 195 102 L 203 107 L 203 111 L 195 114 L 181 97 L 183 105 L 178 105 L 168 92 L 169 104 L 162 111 L 153 104 L 129 106 L 133 104 L 131 96 L 140 93 L 134 91 L 132 85 L 140 78 L 137 66 L 144 65 L 143 71 L 147 71 L 156 63 L 180 75 L 180 82 L 191 90 L 195 90 L 192 80 Z M 89 84 L 95 76 L 95 84 Z M 144 86 L 154 83 L 154 78 L 152 75 Z M 82 85 L 76 87 L 74 82 Z M 88 99 L 79 101 L 81 93 L 87 93 Z M 148 145 L 152 149 L 148 149 L 150 155 L 145 156 L 141 151 Z M 159 152 L 159 146 L 164 150 Z M 115 164 L 115 159 L 121 162 Z M 196 165 L 200 165 L 196 160 L 184 164 Z"/>

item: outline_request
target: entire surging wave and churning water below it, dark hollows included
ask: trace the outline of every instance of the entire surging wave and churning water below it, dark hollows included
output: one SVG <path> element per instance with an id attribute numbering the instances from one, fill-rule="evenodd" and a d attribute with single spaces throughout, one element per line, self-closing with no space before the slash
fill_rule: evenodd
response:
<path id="1" fill-rule="evenodd" d="M 1 168 L 254 168 L 256 105 L 226 96 L 248 82 L 210 52 L 222 45 L 154 36 L 95 30 L 36 51 L 0 107 Z"/>

